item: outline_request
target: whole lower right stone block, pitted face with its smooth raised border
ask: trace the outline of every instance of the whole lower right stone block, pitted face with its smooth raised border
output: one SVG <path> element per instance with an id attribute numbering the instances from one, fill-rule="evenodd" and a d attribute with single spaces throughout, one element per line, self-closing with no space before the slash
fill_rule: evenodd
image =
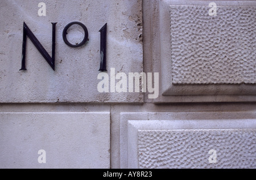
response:
<path id="1" fill-rule="evenodd" d="M 123 113 L 121 168 L 255 168 L 254 112 Z"/>

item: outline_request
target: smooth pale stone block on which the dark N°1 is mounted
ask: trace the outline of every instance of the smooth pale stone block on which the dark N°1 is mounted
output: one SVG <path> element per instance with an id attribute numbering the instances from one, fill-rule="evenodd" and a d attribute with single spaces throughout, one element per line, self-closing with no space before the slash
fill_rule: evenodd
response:
<path id="1" fill-rule="evenodd" d="M 0 102 L 143 102 L 141 93 L 100 93 L 100 32 L 107 29 L 107 70 L 143 72 L 142 1 L 43 1 L 46 16 L 38 15 L 38 3 L 0 2 Z M 23 22 L 47 52 L 52 51 L 52 24 L 56 25 L 56 70 L 53 71 L 27 39 L 26 68 L 22 63 Z M 80 48 L 67 46 L 64 27 L 81 22 L 89 41 Z M 68 31 L 68 40 L 80 43 L 84 32 L 78 25 Z M 116 83 L 118 80 L 116 80 Z"/>

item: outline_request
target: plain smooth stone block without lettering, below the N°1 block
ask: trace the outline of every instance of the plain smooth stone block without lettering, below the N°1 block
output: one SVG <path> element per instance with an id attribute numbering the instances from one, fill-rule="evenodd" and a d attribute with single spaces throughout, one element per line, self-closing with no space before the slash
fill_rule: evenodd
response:
<path id="1" fill-rule="evenodd" d="M 0 113 L 0 168 L 110 168 L 109 149 L 109 113 Z"/>

